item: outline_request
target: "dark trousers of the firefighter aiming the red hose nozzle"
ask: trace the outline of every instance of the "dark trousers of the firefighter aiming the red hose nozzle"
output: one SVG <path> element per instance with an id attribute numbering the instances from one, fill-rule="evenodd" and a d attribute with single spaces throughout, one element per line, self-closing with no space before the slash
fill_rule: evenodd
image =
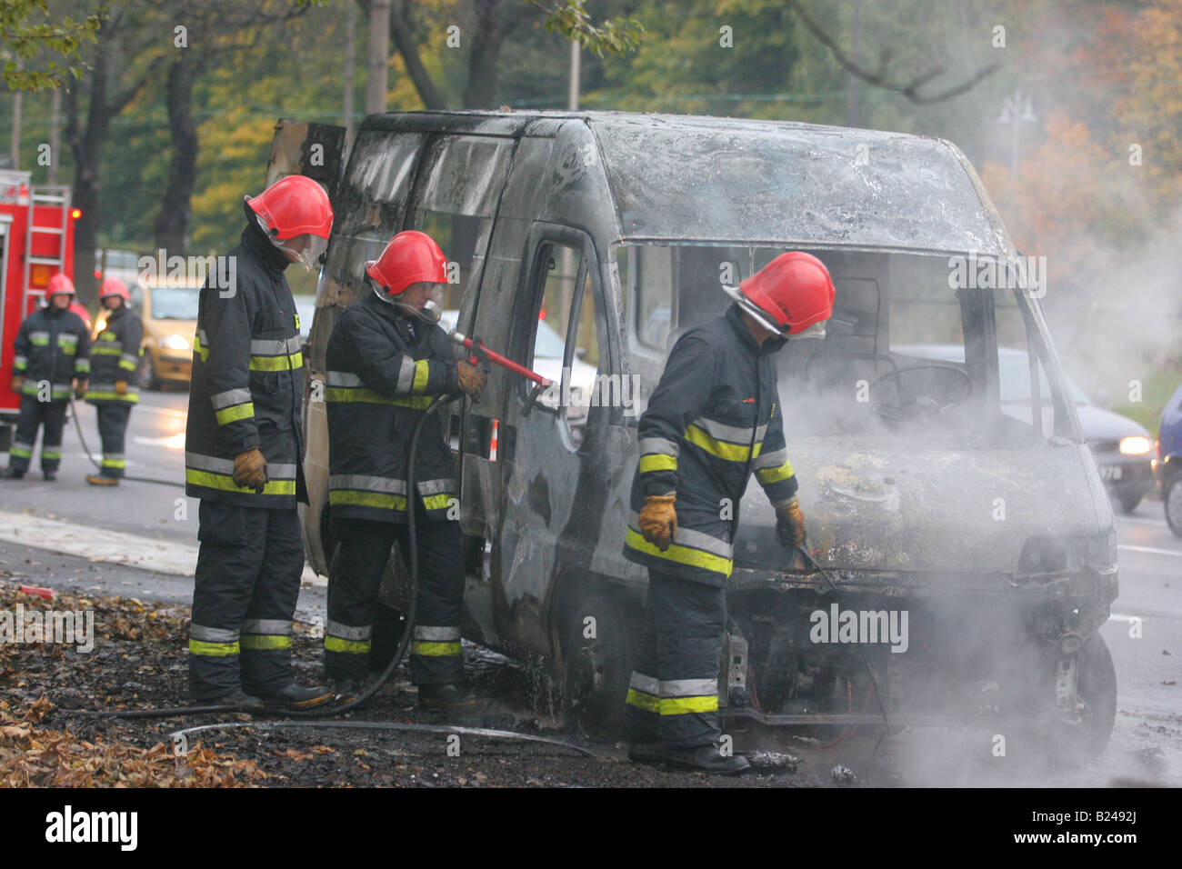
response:
<path id="1" fill-rule="evenodd" d="M 339 544 L 329 568 L 329 625 L 324 631 L 324 667 L 330 679 L 364 677 L 378 586 L 395 540 L 409 565 L 408 527 L 404 523 L 365 519 L 332 523 Z M 460 524 L 427 519 L 418 502 L 415 527 L 418 594 L 410 644 L 410 680 L 415 685 L 462 682 Z"/>

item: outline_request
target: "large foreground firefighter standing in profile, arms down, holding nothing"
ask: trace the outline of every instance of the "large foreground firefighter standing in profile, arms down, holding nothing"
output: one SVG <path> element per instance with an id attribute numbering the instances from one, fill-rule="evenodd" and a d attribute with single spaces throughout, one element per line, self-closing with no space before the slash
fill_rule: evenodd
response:
<path id="1" fill-rule="evenodd" d="M 291 175 L 243 201 L 241 242 L 201 290 L 186 430 L 186 494 L 201 499 L 189 692 L 243 709 L 332 699 L 296 683 L 292 616 L 307 502 L 304 369 L 284 270 L 319 262 L 332 226 L 318 183 Z"/>

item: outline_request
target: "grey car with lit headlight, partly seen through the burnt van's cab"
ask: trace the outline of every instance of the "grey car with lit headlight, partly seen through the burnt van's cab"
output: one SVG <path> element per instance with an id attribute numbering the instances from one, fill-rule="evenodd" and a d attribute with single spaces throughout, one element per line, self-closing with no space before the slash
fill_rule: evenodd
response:
<path id="1" fill-rule="evenodd" d="M 959 346 L 892 346 L 891 352 L 963 364 L 965 350 Z M 1001 404 L 1007 414 L 1030 420 L 1031 378 L 1030 357 L 1025 350 L 998 349 L 1001 376 Z M 1050 406 L 1051 390 L 1046 374 L 1040 375 L 1040 395 L 1044 411 Z M 1096 459 L 1100 480 L 1113 501 L 1124 513 L 1131 513 L 1141 499 L 1154 488 L 1151 453 L 1154 443 L 1149 430 L 1128 416 L 1097 407 L 1071 378 L 1064 377 L 1070 400 L 1076 406 L 1084 437 Z"/>

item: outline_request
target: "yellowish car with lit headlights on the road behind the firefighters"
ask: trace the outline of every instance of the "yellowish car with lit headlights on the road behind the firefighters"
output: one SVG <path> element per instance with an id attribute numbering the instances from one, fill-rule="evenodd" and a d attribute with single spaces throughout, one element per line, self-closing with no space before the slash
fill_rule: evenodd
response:
<path id="1" fill-rule="evenodd" d="M 128 290 L 131 305 L 144 323 L 139 388 L 188 383 L 193 372 L 193 337 L 197 331 L 201 284 L 132 284 Z"/>

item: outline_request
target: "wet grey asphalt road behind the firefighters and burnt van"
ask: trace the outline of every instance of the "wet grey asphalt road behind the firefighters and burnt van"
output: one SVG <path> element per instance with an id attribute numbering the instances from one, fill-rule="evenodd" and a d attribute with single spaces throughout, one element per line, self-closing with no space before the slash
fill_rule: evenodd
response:
<path id="1" fill-rule="evenodd" d="M 187 391 L 145 393 L 131 414 L 128 473 L 171 485 L 125 481 L 112 488 L 89 486 L 83 476 L 91 465 L 76 426 L 70 423 L 58 481 L 43 482 L 34 459 L 25 480 L 0 482 L 0 513 L 64 520 L 76 526 L 82 539 L 100 539 L 102 530 L 109 530 L 195 550 L 197 502 L 186 499 L 181 486 L 187 402 Z M 95 410 L 82 402 L 76 408 L 97 456 Z M 1182 785 L 1182 540 L 1170 533 L 1157 500 L 1143 501 L 1131 517 L 1118 517 L 1117 526 L 1121 595 L 1102 628 L 1117 673 L 1116 728 L 1103 766 L 1065 783 L 1103 785 L 1130 779 Z M 103 586 L 111 594 L 178 602 L 191 595 L 191 578 L 110 564 L 91 570 L 85 552 L 72 558 L 63 555 L 64 550 L 38 550 L 34 538 L 35 530 L 32 536 L 0 543 L 0 565 L 6 569 L 0 572 L 63 590 Z M 323 611 L 323 589 L 305 586 L 298 617 L 309 621 Z M 930 742 L 923 745 L 927 750 Z M 948 783 L 946 772 L 941 769 L 935 776 L 903 780 Z M 900 779 L 886 776 L 878 780 Z"/>

